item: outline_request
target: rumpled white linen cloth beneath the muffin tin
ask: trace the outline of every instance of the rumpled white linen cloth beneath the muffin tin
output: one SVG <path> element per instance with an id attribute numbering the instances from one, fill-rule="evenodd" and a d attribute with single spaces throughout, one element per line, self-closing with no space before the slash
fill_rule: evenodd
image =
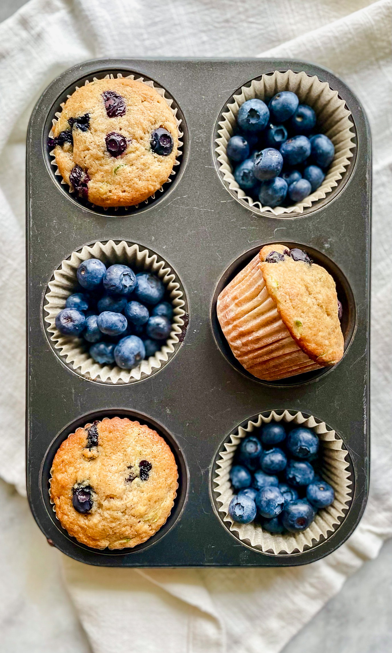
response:
<path id="1" fill-rule="evenodd" d="M 295 57 L 342 76 L 372 129 L 372 483 L 361 524 L 324 560 L 289 569 L 99 569 L 57 553 L 94 653 L 277 653 L 392 535 L 391 18 L 391 0 L 31 0 L 0 25 L 0 475 L 22 494 L 25 132 L 54 76 L 94 57 Z"/>

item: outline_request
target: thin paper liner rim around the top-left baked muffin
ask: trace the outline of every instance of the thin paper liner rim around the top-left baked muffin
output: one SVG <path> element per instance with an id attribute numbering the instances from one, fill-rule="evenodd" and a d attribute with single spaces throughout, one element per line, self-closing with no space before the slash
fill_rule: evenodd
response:
<path id="1" fill-rule="evenodd" d="M 116 77 L 117 78 L 122 78 L 123 75 L 122 75 L 121 72 L 118 72 Z M 110 73 L 110 74 L 106 74 L 106 75 L 104 75 L 102 77 L 93 77 L 90 80 L 86 80 L 86 82 L 84 82 L 84 86 L 87 86 L 87 84 L 90 84 L 90 82 L 97 82 L 97 80 L 101 80 L 101 79 L 105 79 L 105 80 L 114 79 L 114 74 Z M 180 129 L 180 125 L 182 123 L 182 120 L 177 117 L 177 108 L 175 106 L 172 106 L 174 100 L 172 99 L 172 97 L 170 97 L 169 93 L 167 93 L 167 91 L 165 89 L 161 88 L 160 86 L 157 86 L 157 84 L 155 84 L 152 80 L 144 80 L 143 77 L 136 77 L 134 74 L 125 76 L 125 79 L 135 80 L 135 82 L 143 82 L 143 84 L 146 84 L 146 86 L 150 86 L 150 88 L 154 88 L 155 91 L 157 91 L 157 93 L 159 93 L 159 95 L 165 100 L 165 102 L 169 106 L 169 108 L 170 108 L 170 110 L 172 112 L 172 115 L 174 117 L 174 120 L 176 121 L 176 125 L 177 125 L 178 148 L 177 148 L 176 160 L 174 161 L 173 168 L 172 168 L 172 171 L 171 171 L 171 173 L 169 175 L 169 179 L 167 180 L 167 182 L 163 183 L 163 185 L 161 185 L 161 187 L 159 189 L 157 189 L 157 191 L 155 191 L 155 193 L 150 195 L 150 197 L 148 197 L 146 200 L 144 200 L 144 202 L 141 202 L 141 204 L 149 204 L 149 202 L 151 202 L 151 200 L 155 199 L 155 194 L 156 193 L 163 193 L 163 191 L 165 191 L 165 185 L 167 185 L 168 183 L 171 183 L 172 182 L 171 178 L 174 177 L 174 175 L 176 174 L 176 170 L 174 170 L 174 168 L 176 166 L 180 165 L 180 163 L 181 163 L 181 161 L 179 159 L 182 156 L 182 149 L 181 148 L 184 145 L 184 143 L 181 140 L 182 136 L 184 136 L 184 133 Z M 75 86 L 75 88 L 73 89 L 73 93 L 74 93 L 74 91 L 77 91 L 78 88 L 80 88 L 80 87 Z M 72 95 L 72 93 L 69 93 L 69 95 L 67 95 L 67 98 L 71 97 L 71 95 Z M 167 96 L 169 96 L 169 97 L 167 97 Z M 64 104 L 65 104 L 65 102 L 62 102 L 60 104 L 61 110 L 63 109 Z M 54 115 L 56 116 L 56 118 L 52 119 L 52 129 L 50 130 L 50 132 L 48 134 L 48 138 L 54 138 L 53 128 L 54 128 L 54 125 L 56 125 L 57 120 L 61 116 L 61 111 L 56 111 L 56 113 Z M 59 168 L 57 168 L 56 157 L 54 155 L 54 149 L 51 150 L 49 152 L 49 154 L 52 157 L 52 160 L 50 161 L 50 163 L 52 164 L 52 166 L 54 166 L 54 168 L 56 168 L 56 170 L 54 171 L 54 174 L 55 174 L 55 176 L 61 178 L 60 179 L 61 185 L 68 186 L 69 193 L 71 195 L 74 195 L 78 199 L 80 199 L 78 197 L 78 195 L 76 194 L 76 192 L 74 191 L 73 187 L 71 187 L 69 185 L 69 183 L 67 183 L 63 179 L 63 176 L 61 175 L 61 172 L 59 171 Z M 90 204 L 90 206 L 93 206 L 93 208 L 98 208 L 99 210 L 104 210 L 104 211 L 112 210 L 112 209 L 114 209 L 114 210 L 119 210 L 119 209 L 127 210 L 127 208 L 137 209 L 140 206 L 140 204 L 132 204 L 131 207 L 127 207 L 127 206 L 103 207 L 103 206 L 96 206 L 95 204 L 92 204 L 92 202 L 88 202 L 88 204 Z"/>

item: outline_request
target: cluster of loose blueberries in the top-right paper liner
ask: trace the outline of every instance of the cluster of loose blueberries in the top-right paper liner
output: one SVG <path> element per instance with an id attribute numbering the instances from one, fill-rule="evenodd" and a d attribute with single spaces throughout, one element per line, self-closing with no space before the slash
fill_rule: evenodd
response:
<path id="1" fill-rule="evenodd" d="M 244 102 L 226 150 L 238 186 L 271 208 L 314 193 L 335 156 L 333 142 L 314 133 L 316 122 L 312 107 L 291 91 L 277 93 L 268 106 L 257 98 Z"/>

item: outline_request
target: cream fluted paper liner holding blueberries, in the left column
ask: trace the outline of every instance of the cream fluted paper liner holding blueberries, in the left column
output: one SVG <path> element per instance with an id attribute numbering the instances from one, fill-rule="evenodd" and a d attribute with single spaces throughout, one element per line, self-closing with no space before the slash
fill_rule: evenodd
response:
<path id="1" fill-rule="evenodd" d="M 122 263 L 135 267 L 139 271 L 149 270 L 161 279 L 169 294 L 174 310 L 171 334 L 154 356 L 150 356 L 148 360 L 142 360 L 132 370 L 122 370 L 114 363 L 101 365 L 95 362 L 86 351 L 86 343 L 82 338 L 63 336 L 56 328 L 56 315 L 65 308 L 67 297 L 73 293 L 77 283 L 76 270 L 80 263 L 87 259 L 100 259 L 105 264 Z M 67 365 L 77 374 L 88 379 L 101 379 L 105 383 L 114 384 L 140 381 L 166 364 L 184 340 L 183 332 L 187 325 L 184 319 L 184 293 L 180 281 L 168 264 L 159 259 L 157 254 L 150 253 L 148 249 L 140 249 L 137 244 L 125 241 L 116 244 L 113 240 L 109 240 L 106 243 L 96 242 L 92 246 L 85 245 L 80 251 L 74 251 L 71 257 L 61 263 L 48 283 L 48 288 L 49 292 L 46 293 L 44 301 L 44 311 L 47 313 L 44 315 L 44 322 L 48 338 L 55 353 L 59 357 L 65 358 Z M 87 346 L 90 347 L 90 343 Z"/>

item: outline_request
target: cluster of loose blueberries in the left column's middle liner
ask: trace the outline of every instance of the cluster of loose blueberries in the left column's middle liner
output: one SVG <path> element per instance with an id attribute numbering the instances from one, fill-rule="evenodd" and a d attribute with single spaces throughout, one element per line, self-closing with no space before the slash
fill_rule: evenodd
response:
<path id="1" fill-rule="evenodd" d="M 80 288 L 56 316 L 60 333 L 84 338 L 95 362 L 124 370 L 161 349 L 173 316 L 161 279 L 120 263 L 106 269 L 99 259 L 83 261 L 76 274 Z"/>

